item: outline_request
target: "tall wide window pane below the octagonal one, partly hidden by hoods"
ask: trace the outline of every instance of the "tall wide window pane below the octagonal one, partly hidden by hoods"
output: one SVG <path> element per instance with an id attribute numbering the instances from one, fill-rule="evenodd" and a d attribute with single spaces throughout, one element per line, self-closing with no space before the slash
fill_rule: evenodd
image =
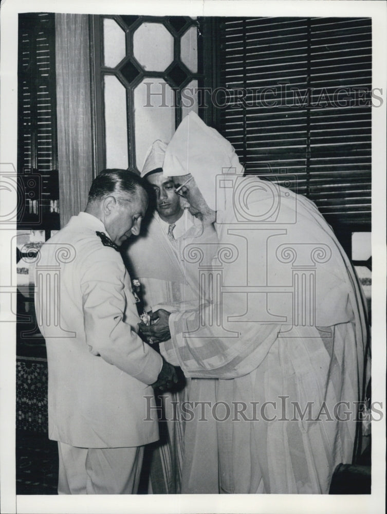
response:
<path id="1" fill-rule="evenodd" d="M 175 132 L 175 102 L 171 87 L 162 79 L 146 78 L 134 90 L 136 164 L 156 139 L 168 143 Z"/>

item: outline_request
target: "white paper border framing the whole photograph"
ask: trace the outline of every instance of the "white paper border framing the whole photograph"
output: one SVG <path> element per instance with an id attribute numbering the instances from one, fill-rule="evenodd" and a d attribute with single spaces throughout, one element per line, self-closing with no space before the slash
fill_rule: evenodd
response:
<path id="1" fill-rule="evenodd" d="M 385 416 L 385 283 L 386 283 L 386 3 L 381 0 L 3 0 L 0 11 L 0 173 L 17 162 L 17 17 L 20 12 L 148 14 L 156 16 L 338 16 L 372 17 L 373 88 L 381 89 L 382 105 L 372 111 L 372 339 L 373 401 Z M 1 200 L 4 198 L 4 202 Z M 5 199 L 6 198 L 6 199 Z M 9 194 L 0 191 L 0 209 L 9 212 Z M 14 198 L 16 205 L 16 197 Z M 1 219 L 1 218 L 0 218 Z M 378 512 L 385 498 L 385 420 L 372 423 L 371 495 L 134 495 L 49 496 L 15 494 L 15 320 L 2 284 L 11 274 L 10 241 L 15 230 L 0 230 L 0 372 L 1 372 L 1 511 L 17 513 L 250 513 Z M 15 283 L 13 277 L 12 283 Z M 15 296 L 13 309 L 15 308 Z M 7 306 L 8 303 L 8 306 Z M 7 311 L 8 309 L 8 311 Z"/>

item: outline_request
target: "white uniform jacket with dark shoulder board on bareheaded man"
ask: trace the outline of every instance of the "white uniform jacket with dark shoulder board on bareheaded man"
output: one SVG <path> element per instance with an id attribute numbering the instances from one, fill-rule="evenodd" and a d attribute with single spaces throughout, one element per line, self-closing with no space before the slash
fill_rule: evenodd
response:
<path id="1" fill-rule="evenodd" d="M 137 335 L 131 280 L 81 212 L 41 248 L 36 316 L 46 340 L 49 438 L 84 448 L 158 439 L 151 384 L 160 355 Z"/>

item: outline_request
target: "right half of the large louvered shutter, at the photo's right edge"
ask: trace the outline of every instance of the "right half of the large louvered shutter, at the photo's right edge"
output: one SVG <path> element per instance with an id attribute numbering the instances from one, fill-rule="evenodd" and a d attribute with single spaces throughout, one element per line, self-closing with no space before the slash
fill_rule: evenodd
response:
<path id="1" fill-rule="evenodd" d="M 309 195 L 334 224 L 371 223 L 371 44 L 370 19 L 310 21 Z"/>

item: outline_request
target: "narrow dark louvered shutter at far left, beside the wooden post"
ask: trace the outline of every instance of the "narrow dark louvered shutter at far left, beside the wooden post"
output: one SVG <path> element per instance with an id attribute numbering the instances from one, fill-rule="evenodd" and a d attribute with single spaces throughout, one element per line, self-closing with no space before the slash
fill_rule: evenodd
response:
<path id="1" fill-rule="evenodd" d="M 54 14 L 19 15 L 19 227 L 59 228 Z M 37 177 L 37 179 L 36 179 Z"/>

